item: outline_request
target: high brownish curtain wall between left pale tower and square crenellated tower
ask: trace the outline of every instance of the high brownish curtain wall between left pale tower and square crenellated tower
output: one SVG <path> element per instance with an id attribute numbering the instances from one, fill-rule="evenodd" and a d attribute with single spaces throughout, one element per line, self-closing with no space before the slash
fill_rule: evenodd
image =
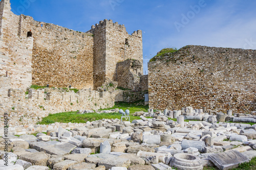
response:
<path id="1" fill-rule="evenodd" d="M 53 87 L 93 87 L 91 33 L 81 33 L 20 15 L 20 37 L 32 32 L 32 84 Z"/>

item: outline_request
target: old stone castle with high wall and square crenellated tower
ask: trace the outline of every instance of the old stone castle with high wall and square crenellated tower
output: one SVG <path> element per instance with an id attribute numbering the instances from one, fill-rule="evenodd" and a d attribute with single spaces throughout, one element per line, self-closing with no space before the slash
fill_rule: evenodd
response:
<path id="1" fill-rule="evenodd" d="M 11 78 L 12 88 L 31 84 L 50 87 L 96 88 L 106 79 L 117 80 L 117 63 L 139 62 L 143 74 L 142 32 L 132 35 L 112 20 L 100 21 L 82 33 L 30 16 L 12 13 L 10 1 L 2 0 L 0 76 Z"/>

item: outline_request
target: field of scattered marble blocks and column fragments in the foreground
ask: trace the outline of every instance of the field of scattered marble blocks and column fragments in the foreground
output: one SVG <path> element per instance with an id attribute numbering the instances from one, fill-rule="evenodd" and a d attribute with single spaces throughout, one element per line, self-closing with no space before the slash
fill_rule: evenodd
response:
<path id="1" fill-rule="evenodd" d="M 230 169 L 256 156 L 256 125 L 220 121 L 255 119 L 251 115 L 191 107 L 135 114 L 141 119 L 132 123 L 101 119 L 10 127 L 8 166 L 0 138 L 0 169 Z"/>

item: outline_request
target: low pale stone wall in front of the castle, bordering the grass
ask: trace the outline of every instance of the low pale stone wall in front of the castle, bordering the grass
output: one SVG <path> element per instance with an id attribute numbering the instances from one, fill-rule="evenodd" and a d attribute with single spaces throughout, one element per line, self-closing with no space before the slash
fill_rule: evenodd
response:
<path id="1" fill-rule="evenodd" d="M 45 93 L 46 89 L 50 92 Z M 49 114 L 113 107 L 115 101 L 123 100 L 122 90 L 110 93 L 86 89 L 75 93 L 74 91 L 46 89 L 29 89 L 28 94 L 25 93 L 26 90 L 12 89 L 9 97 L 1 96 L 0 116 L 8 112 L 11 118 L 9 119 L 10 126 L 29 125 L 36 124 L 42 117 Z M 0 120 L 0 124 L 1 126 L 4 124 L 4 119 Z"/>

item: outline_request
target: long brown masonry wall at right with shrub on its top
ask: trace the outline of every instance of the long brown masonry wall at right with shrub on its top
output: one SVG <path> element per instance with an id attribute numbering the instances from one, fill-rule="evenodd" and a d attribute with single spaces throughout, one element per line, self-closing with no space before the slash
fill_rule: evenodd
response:
<path id="1" fill-rule="evenodd" d="M 256 50 L 188 45 L 148 63 L 149 107 L 256 110 Z"/>

